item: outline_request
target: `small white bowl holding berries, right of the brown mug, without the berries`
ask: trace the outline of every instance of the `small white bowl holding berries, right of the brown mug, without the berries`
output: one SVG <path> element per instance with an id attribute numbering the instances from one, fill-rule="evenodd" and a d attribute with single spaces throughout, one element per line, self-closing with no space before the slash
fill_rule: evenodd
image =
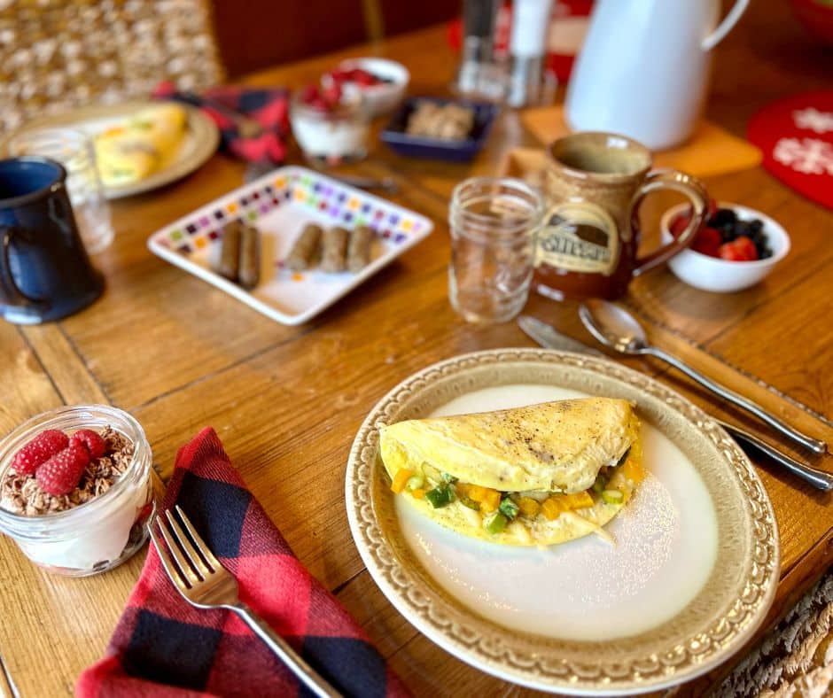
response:
<path id="1" fill-rule="evenodd" d="M 688 204 L 674 206 L 663 215 L 661 222 L 663 243 L 671 242 L 673 239 L 670 230 L 671 221 L 687 206 Z M 775 265 L 787 256 L 787 252 L 790 252 L 790 236 L 777 221 L 754 208 L 738 206 L 726 201 L 720 201 L 718 206 L 731 208 L 741 221 L 752 221 L 756 218 L 763 221 L 763 232 L 767 236 L 772 257 L 767 257 L 766 260 L 728 261 L 689 249 L 674 255 L 668 260 L 668 266 L 673 275 L 682 282 L 703 291 L 730 293 L 748 289 L 769 274 Z"/>

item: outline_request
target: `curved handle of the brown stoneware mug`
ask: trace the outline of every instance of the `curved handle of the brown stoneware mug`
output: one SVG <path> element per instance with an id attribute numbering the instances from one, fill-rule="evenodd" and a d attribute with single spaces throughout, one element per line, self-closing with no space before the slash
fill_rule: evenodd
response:
<path id="1" fill-rule="evenodd" d="M 679 237 L 674 238 L 668 244 L 662 245 L 658 250 L 654 250 L 654 252 L 650 252 L 650 254 L 636 259 L 634 276 L 658 267 L 664 261 L 672 258 L 677 252 L 681 252 L 688 247 L 706 221 L 709 208 L 709 195 L 706 193 L 705 186 L 703 186 L 703 183 L 697 177 L 692 177 L 690 174 L 685 174 L 679 170 L 654 170 L 653 172 L 649 172 L 645 177 L 645 181 L 642 182 L 642 186 L 636 192 L 634 200 L 631 202 L 630 226 L 634 234 L 639 229 L 639 205 L 642 203 L 642 199 L 648 196 L 651 191 L 660 189 L 673 189 L 679 191 L 681 194 L 685 194 L 691 200 L 694 213 L 691 216 L 688 227 L 682 231 Z"/>

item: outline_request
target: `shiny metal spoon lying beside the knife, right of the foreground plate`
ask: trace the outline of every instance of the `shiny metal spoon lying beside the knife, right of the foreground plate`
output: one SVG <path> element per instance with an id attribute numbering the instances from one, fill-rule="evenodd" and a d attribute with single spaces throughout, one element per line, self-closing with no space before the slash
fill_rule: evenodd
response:
<path id="1" fill-rule="evenodd" d="M 758 403 L 744 398 L 743 395 L 738 395 L 736 392 L 729 390 L 725 385 L 712 381 L 711 378 L 691 368 L 688 364 L 673 356 L 673 354 L 666 353 L 657 346 L 650 345 L 645 335 L 645 330 L 642 329 L 642 325 L 624 308 L 604 300 L 588 300 L 587 303 L 580 306 L 579 316 L 581 322 L 588 329 L 588 332 L 596 337 L 603 345 L 609 346 L 619 353 L 648 354 L 649 356 L 666 361 L 666 363 L 682 371 L 686 376 L 697 381 L 697 383 L 703 385 L 720 398 L 727 399 L 737 407 L 741 407 L 747 412 L 751 412 L 752 415 L 758 416 L 775 430 L 780 431 L 785 437 L 791 438 L 797 444 L 804 446 L 815 454 L 827 452 L 827 444 L 824 441 L 803 434 L 789 424 L 782 422 L 775 415 L 767 412 Z"/>

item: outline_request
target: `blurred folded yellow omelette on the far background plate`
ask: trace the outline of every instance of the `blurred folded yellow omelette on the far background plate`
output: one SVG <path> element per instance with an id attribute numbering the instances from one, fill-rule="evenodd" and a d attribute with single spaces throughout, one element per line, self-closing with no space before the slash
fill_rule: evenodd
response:
<path id="1" fill-rule="evenodd" d="M 152 105 L 99 134 L 94 146 L 106 187 L 143 180 L 179 149 L 188 115 L 181 105 Z"/>

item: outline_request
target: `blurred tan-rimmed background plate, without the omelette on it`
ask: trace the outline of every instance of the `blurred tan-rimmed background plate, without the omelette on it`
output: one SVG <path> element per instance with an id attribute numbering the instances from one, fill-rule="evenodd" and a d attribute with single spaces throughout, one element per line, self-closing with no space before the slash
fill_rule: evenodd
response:
<path id="1" fill-rule="evenodd" d="M 85 106 L 30 121 L 25 128 L 20 130 L 74 128 L 87 134 L 90 138 L 94 138 L 107 128 L 124 123 L 139 110 L 158 104 L 158 101 L 144 101 Z M 160 167 L 144 179 L 129 184 L 105 187 L 105 198 L 132 197 L 145 191 L 159 189 L 166 184 L 182 179 L 187 174 L 191 174 L 214 155 L 217 145 L 220 143 L 220 130 L 217 125 L 203 112 L 200 112 L 197 107 L 181 103 L 179 105 L 188 114 L 185 135 L 179 148 L 172 152 L 164 162 L 160 163 Z M 13 136 L 9 136 L 9 139 Z"/>

